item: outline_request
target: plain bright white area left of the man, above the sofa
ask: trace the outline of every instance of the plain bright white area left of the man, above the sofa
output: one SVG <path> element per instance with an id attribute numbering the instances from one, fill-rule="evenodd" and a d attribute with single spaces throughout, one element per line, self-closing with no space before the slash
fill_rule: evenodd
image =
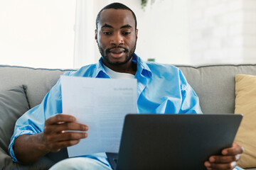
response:
<path id="1" fill-rule="evenodd" d="M 75 1 L 0 1 L 0 64 L 72 68 Z"/>

